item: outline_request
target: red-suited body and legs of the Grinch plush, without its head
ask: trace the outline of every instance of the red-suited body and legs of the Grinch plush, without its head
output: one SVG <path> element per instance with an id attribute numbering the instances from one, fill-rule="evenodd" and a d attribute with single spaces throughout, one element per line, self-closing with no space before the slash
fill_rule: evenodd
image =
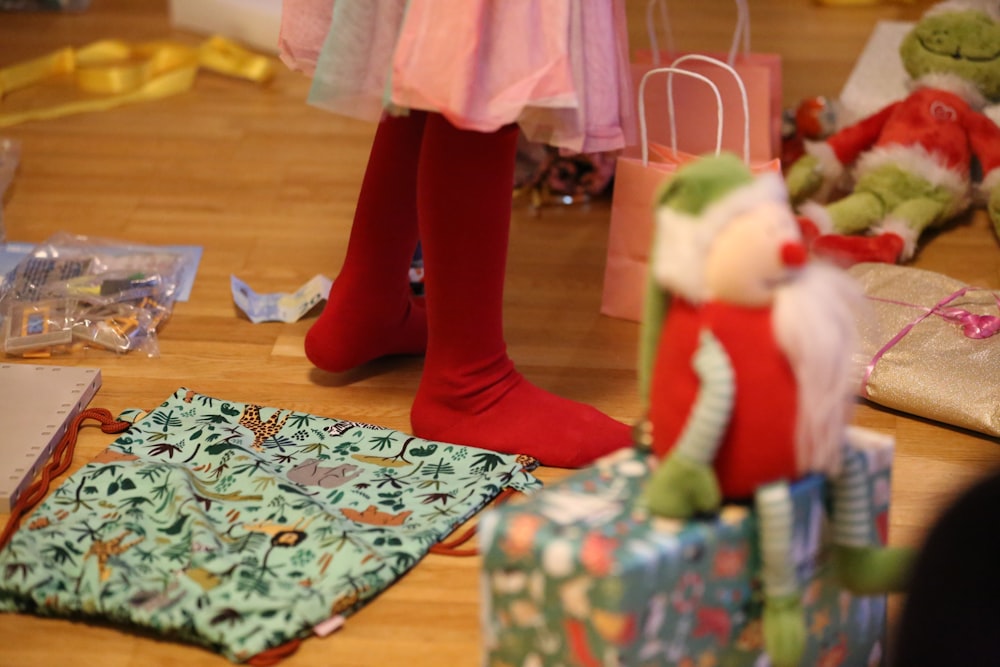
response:
<path id="1" fill-rule="evenodd" d="M 918 80 L 905 99 L 824 142 L 808 144 L 806 150 L 819 159 L 827 184 L 837 182 L 854 165 L 856 185 L 844 199 L 826 207 L 805 204 L 802 213 L 824 233 L 872 230 L 883 236 L 874 242 L 864 237 L 821 237 L 817 249 L 826 246 L 848 255 L 861 253 L 856 260 L 909 259 L 924 229 L 945 222 L 969 205 L 974 160 L 982 167 L 984 192 L 1000 185 L 1000 127 L 982 113 L 985 104 L 968 82 L 953 75 L 931 74 Z M 895 175 L 894 168 L 898 170 Z M 900 182 L 899 172 L 915 178 Z M 862 202 L 859 195 L 874 195 L 882 206 L 873 210 L 869 204 L 876 200 Z M 875 256 L 863 256 L 866 250 Z"/>

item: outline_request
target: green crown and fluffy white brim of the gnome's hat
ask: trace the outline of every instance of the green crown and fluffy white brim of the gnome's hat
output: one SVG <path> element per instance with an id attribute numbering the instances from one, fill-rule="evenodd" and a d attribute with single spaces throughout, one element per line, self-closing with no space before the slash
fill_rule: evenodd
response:
<path id="1" fill-rule="evenodd" d="M 680 167 L 656 198 L 651 258 L 656 282 L 693 302 L 704 300 L 703 265 L 715 235 L 765 201 L 788 204 L 781 176 L 754 174 L 733 154 L 700 157 Z"/>

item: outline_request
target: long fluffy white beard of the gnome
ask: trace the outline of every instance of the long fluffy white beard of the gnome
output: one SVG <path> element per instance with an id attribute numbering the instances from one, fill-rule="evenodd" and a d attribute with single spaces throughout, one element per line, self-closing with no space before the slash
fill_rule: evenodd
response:
<path id="1" fill-rule="evenodd" d="M 798 384 L 796 454 L 802 472 L 840 471 L 861 380 L 854 354 L 864 306 L 861 289 L 846 273 L 818 262 L 775 293 L 775 337 Z"/>

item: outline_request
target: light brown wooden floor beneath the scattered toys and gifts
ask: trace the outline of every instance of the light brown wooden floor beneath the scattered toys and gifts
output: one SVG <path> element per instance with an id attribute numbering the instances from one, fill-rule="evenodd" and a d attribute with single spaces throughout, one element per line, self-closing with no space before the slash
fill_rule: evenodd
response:
<path id="1" fill-rule="evenodd" d="M 727 46 L 732 3 L 671 5 L 679 47 Z M 836 96 L 875 21 L 910 20 L 926 6 L 751 5 L 755 49 L 784 56 L 786 104 Z M 633 45 L 645 39 L 644 6 L 629 0 Z M 0 66 L 102 38 L 199 39 L 171 29 L 166 0 L 93 0 L 88 12 L 74 16 L 0 13 Z M 115 413 L 152 407 L 187 386 L 408 430 L 419 360 L 326 375 L 302 353 L 311 319 L 254 325 L 230 297 L 231 274 L 259 291 L 289 291 L 317 273 L 335 276 L 342 259 L 373 128 L 308 107 L 307 89 L 304 78 L 280 67 L 263 87 L 202 73 L 192 91 L 176 97 L 0 128 L 0 136 L 23 143 L 5 209 L 11 240 L 38 242 L 68 231 L 204 248 L 190 301 L 178 303 L 161 330 L 158 358 L 91 352 L 47 362 L 99 366 L 104 386 L 93 405 Z M 0 103 L 0 111 L 52 94 L 23 93 Z M 507 340 L 520 369 L 536 383 L 631 422 L 639 410 L 637 327 L 598 314 L 607 224 L 607 202 L 548 208 L 540 217 L 523 207 L 515 211 Z M 915 264 L 1000 288 L 1000 248 L 982 212 L 934 239 Z M 856 421 L 896 438 L 891 539 L 897 544 L 918 544 L 958 490 L 1000 464 L 997 442 L 983 436 L 868 405 Z M 97 429 L 86 429 L 74 465 L 109 442 Z M 545 480 L 563 474 L 540 473 Z M 478 566 L 475 558 L 427 558 L 339 634 L 305 642 L 286 664 L 478 664 Z M 0 619 L 0 665 L 66 664 L 197 667 L 226 661 L 112 629 Z"/>

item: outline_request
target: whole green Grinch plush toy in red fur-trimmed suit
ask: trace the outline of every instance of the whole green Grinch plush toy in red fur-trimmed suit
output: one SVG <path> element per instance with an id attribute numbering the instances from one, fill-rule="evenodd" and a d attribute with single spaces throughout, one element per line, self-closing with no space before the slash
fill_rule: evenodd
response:
<path id="1" fill-rule="evenodd" d="M 787 174 L 813 249 L 844 264 L 909 260 L 925 230 L 964 212 L 977 195 L 1000 233 L 1000 127 L 982 112 L 1000 102 L 1000 2 L 934 5 L 900 56 L 912 92 L 807 144 Z M 850 169 L 850 194 L 823 206 Z"/>

